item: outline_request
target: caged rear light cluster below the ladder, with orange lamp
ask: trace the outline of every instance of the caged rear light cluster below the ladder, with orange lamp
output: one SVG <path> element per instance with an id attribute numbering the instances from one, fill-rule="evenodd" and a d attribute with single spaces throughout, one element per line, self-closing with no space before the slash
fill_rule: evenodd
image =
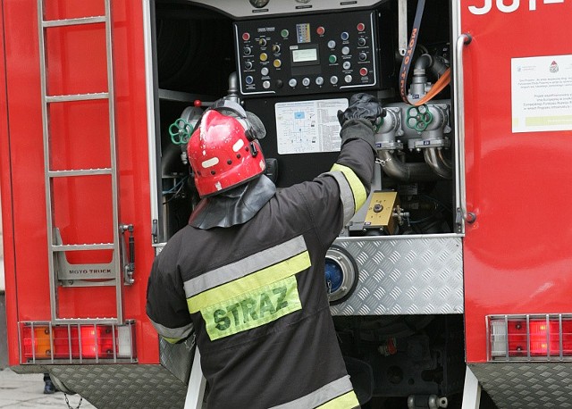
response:
<path id="1" fill-rule="evenodd" d="M 21 363 L 135 362 L 132 322 L 113 324 L 21 323 Z"/>

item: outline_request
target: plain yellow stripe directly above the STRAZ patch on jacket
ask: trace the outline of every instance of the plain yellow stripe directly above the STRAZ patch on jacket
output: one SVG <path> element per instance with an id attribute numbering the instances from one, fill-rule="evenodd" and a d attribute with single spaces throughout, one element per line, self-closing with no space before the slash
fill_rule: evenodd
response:
<path id="1" fill-rule="evenodd" d="M 230 298 L 246 294 L 249 291 L 267 286 L 275 281 L 293 276 L 300 271 L 306 270 L 310 265 L 310 255 L 305 251 L 288 260 L 248 274 L 248 276 L 238 280 L 233 280 L 222 286 L 211 288 L 197 296 L 191 296 L 187 299 L 189 313 L 198 313 L 210 305 L 217 305 Z"/>

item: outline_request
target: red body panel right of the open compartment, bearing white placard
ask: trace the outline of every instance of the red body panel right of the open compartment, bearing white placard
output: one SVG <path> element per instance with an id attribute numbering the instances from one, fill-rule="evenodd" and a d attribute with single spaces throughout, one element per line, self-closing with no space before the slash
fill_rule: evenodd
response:
<path id="1" fill-rule="evenodd" d="M 572 3 L 464 0 L 467 362 L 485 316 L 572 312 Z"/>

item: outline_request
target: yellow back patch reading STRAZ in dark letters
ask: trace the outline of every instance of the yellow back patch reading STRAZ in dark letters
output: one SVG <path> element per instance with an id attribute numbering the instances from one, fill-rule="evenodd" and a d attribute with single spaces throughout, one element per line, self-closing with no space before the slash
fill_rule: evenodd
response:
<path id="1" fill-rule="evenodd" d="M 301 310 L 296 277 L 257 288 L 201 310 L 211 341 L 276 321 Z"/>

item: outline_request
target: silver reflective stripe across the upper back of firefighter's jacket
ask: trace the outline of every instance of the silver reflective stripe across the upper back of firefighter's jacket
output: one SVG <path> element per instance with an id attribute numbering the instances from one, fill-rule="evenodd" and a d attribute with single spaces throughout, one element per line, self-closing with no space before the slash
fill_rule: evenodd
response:
<path id="1" fill-rule="evenodd" d="M 232 280 L 240 279 L 252 272 L 280 263 L 294 255 L 299 255 L 306 250 L 306 241 L 304 241 L 302 236 L 291 238 L 284 243 L 270 247 L 254 255 L 250 255 L 236 263 L 231 263 L 218 269 L 207 271 L 205 274 L 185 281 L 185 294 L 187 298 L 196 296 L 207 289 L 215 288 Z"/>

